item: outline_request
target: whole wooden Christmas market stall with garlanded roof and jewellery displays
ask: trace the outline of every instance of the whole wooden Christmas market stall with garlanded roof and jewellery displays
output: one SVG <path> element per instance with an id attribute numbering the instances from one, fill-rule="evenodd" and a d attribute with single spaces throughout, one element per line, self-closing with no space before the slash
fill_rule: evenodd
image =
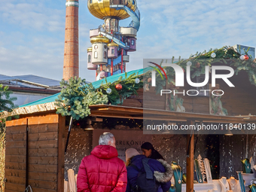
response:
<path id="1" fill-rule="evenodd" d="M 61 93 L 6 113 L 19 114 L 20 118 L 7 122 L 5 191 L 24 191 L 28 186 L 35 192 L 75 187 L 82 158 L 98 145 L 104 132 L 114 134 L 122 160 L 127 148 L 141 151 L 144 142 L 151 142 L 172 164 L 174 177 L 169 191 L 254 189 L 254 60 L 223 47 L 186 60 L 151 62 L 153 68 L 113 75 L 92 84 L 81 78 L 62 81 L 66 88 Z M 209 78 L 204 87 L 191 87 L 187 82 L 178 87 L 174 71 L 165 63 L 175 63 L 181 69 L 190 66 L 191 80 L 197 83 L 203 82 L 205 66 L 230 66 L 235 75 L 228 80 L 234 87 L 221 78 L 215 82 Z M 155 76 L 161 86 L 154 87 L 152 70 L 162 69 L 163 73 Z M 179 94 L 161 94 L 161 90 Z M 164 124 L 172 128 L 164 129 Z M 197 129 L 178 131 L 192 126 Z M 203 126 L 222 129 L 198 129 Z"/>

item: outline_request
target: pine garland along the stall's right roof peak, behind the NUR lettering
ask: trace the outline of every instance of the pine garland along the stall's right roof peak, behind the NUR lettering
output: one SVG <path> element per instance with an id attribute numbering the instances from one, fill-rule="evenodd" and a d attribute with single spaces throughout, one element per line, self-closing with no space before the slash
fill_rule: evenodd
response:
<path id="1" fill-rule="evenodd" d="M 249 50 L 249 48 L 248 48 Z M 225 66 L 231 66 L 235 74 L 238 75 L 239 72 L 242 70 L 247 72 L 248 74 L 248 80 L 251 82 L 251 84 L 254 84 L 256 86 L 256 59 L 251 58 L 250 55 L 248 55 L 248 50 L 244 50 L 246 56 L 249 57 L 248 60 L 240 59 L 239 57 L 242 55 L 241 50 L 235 50 L 233 47 L 221 47 L 221 49 L 215 49 L 215 50 L 209 50 L 209 52 L 206 52 L 206 50 L 203 53 L 196 53 L 194 55 L 191 55 L 189 59 L 178 59 L 178 62 L 176 62 L 177 65 L 181 66 L 182 69 L 187 68 L 187 62 L 190 61 L 192 65 L 190 66 L 191 71 L 191 78 L 199 77 L 200 75 L 205 74 L 205 66 L 212 66 L 214 64 L 218 65 L 225 65 Z M 212 58 L 211 54 L 215 53 L 215 58 Z M 172 57 L 172 62 L 174 61 L 174 57 Z M 167 60 L 166 60 L 167 62 Z M 163 63 L 163 61 L 160 63 Z M 167 75 L 167 84 L 174 84 L 174 78 L 175 78 L 175 71 L 172 69 L 172 67 L 163 67 L 163 69 L 166 70 Z M 151 72 L 147 72 L 145 74 L 145 79 L 151 78 Z M 160 90 L 163 90 L 163 87 L 166 85 L 166 79 L 161 78 L 160 74 L 156 74 L 156 81 L 157 81 L 157 87 L 155 88 L 157 93 L 160 93 Z"/>

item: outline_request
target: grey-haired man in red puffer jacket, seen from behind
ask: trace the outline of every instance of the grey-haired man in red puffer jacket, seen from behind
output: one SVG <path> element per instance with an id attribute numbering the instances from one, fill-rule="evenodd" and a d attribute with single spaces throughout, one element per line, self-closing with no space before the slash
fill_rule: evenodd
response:
<path id="1" fill-rule="evenodd" d="M 124 192 L 126 166 L 120 160 L 112 133 L 103 133 L 99 145 L 81 162 L 78 170 L 78 192 Z"/>

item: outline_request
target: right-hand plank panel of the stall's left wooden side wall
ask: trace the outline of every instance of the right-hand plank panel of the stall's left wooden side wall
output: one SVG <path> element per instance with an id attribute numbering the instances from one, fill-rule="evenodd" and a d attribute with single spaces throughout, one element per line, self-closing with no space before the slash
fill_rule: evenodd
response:
<path id="1" fill-rule="evenodd" d="M 29 118 L 29 185 L 57 191 L 58 115 Z"/>

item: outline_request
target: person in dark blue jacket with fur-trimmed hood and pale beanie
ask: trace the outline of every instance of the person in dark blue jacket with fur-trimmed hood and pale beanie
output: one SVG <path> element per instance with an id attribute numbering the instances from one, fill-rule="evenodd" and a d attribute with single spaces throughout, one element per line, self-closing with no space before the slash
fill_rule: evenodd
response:
<path id="1" fill-rule="evenodd" d="M 145 159 L 145 155 L 139 154 L 139 152 L 135 148 L 129 148 L 126 150 L 126 169 L 127 169 L 127 187 L 126 192 L 133 192 L 133 188 L 136 187 L 136 180 L 139 175 L 139 171 L 135 169 L 133 166 L 137 166 L 138 169 L 144 170 L 142 159 Z M 169 190 L 171 186 L 171 178 L 172 178 L 172 166 L 170 166 L 165 160 L 148 160 L 148 165 L 152 172 L 154 172 L 154 177 L 160 187 L 157 192 L 166 192 Z"/>

